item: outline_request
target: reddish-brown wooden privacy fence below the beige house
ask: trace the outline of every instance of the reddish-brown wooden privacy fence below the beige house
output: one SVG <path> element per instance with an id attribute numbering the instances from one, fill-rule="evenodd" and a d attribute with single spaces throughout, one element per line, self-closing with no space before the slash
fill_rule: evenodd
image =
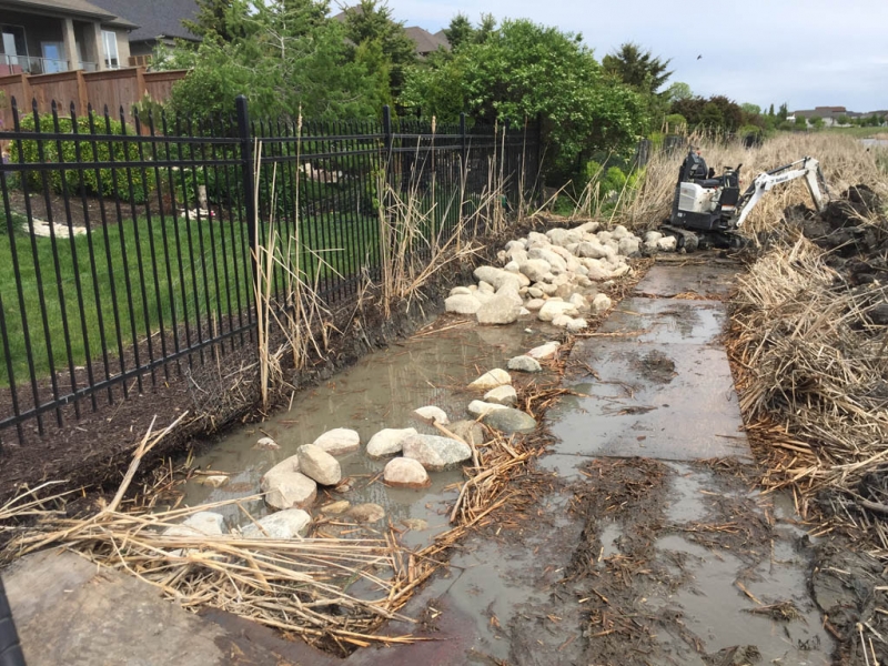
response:
<path id="1" fill-rule="evenodd" d="M 75 70 L 38 75 L 8 74 L 0 77 L 0 91 L 6 98 L 0 103 L 0 120 L 2 127 L 12 127 L 12 111 L 9 108 L 12 98 L 37 100 L 41 113 L 51 111 L 52 100 L 72 100 L 78 115 L 84 114 L 89 104 L 99 112 L 105 105 L 112 112 L 121 107 L 129 110 L 145 93 L 154 100 L 165 101 L 170 98 L 173 83 L 184 79 L 186 73 L 186 70 L 147 72 L 143 67 L 132 67 L 99 72 Z"/>

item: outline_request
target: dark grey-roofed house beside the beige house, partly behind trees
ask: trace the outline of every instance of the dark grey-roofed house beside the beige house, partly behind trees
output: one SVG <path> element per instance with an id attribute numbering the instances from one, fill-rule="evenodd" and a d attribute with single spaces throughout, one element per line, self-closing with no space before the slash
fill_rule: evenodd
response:
<path id="1" fill-rule="evenodd" d="M 182 26 L 198 16 L 195 0 L 92 0 L 102 9 L 139 27 L 130 32 L 130 67 L 148 65 L 159 44 L 171 47 L 176 40 L 191 42 L 200 38 Z"/>

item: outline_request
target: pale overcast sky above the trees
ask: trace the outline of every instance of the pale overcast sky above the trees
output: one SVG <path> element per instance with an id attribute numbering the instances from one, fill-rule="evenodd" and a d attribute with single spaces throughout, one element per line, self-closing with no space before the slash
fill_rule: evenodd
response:
<path id="1" fill-rule="evenodd" d="M 431 32 L 462 12 L 477 22 L 531 19 L 581 32 L 599 60 L 635 41 L 672 59 L 670 81 L 696 94 L 789 110 L 888 109 L 888 0 L 389 0 L 394 18 Z M 697 56 L 703 56 L 699 60 Z"/>

